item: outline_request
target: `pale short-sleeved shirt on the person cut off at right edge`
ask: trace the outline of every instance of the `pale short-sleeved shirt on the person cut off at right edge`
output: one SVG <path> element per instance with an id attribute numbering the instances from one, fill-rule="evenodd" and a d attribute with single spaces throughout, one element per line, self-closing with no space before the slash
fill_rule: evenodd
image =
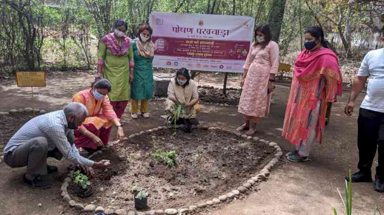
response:
<path id="1" fill-rule="evenodd" d="M 367 95 L 360 107 L 384 113 L 384 49 L 368 52 L 357 76 L 368 76 Z"/>

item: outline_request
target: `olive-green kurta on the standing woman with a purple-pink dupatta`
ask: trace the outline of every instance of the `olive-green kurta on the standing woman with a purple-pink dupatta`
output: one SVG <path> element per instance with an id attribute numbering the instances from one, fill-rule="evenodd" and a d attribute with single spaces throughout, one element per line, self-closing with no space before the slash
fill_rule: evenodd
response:
<path id="1" fill-rule="evenodd" d="M 112 83 L 108 94 L 113 102 L 131 99 L 130 61 L 133 61 L 132 43 L 125 54 L 113 55 L 103 41 L 99 41 L 99 64 L 102 64 L 103 78 Z M 101 62 L 101 63 L 100 63 Z"/>

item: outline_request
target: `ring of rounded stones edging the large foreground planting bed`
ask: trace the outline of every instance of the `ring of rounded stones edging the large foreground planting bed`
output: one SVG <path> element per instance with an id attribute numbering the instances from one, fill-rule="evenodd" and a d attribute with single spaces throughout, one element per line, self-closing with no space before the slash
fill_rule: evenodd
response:
<path id="1" fill-rule="evenodd" d="M 181 127 L 183 127 L 183 125 L 177 126 L 177 128 L 181 128 Z M 139 133 L 131 134 L 129 137 L 125 137 L 123 140 L 132 139 L 132 138 L 135 138 L 136 136 L 156 132 L 156 131 L 159 131 L 162 129 L 172 129 L 172 128 L 173 128 L 172 126 L 159 126 L 159 127 L 154 128 L 154 129 L 149 129 L 149 130 L 145 130 L 145 131 L 140 131 Z M 231 200 L 231 199 L 234 199 L 234 198 L 244 194 L 248 189 L 250 189 L 253 185 L 255 185 L 256 182 L 266 181 L 268 179 L 268 176 L 270 175 L 270 171 L 272 170 L 273 166 L 276 163 L 278 163 L 279 160 L 281 159 L 281 157 L 283 156 L 282 149 L 280 148 L 280 146 L 278 144 L 276 144 L 276 142 L 269 142 L 269 141 L 264 140 L 264 139 L 259 139 L 259 137 L 248 136 L 246 134 L 228 131 L 228 130 L 225 130 L 225 129 L 222 129 L 219 127 L 208 127 L 208 126 L 198 125 L 198 126 L 193 126 L 193 128 L 203 129 L 203 130 L 227 131 L 227 132 L 230 132 L 230 133 L 237 135 L 238 137 L 242 137 L 244 139 L 253 140 L 254 142 L 262 142 L 262 143 L 268 145 L 269 147 L 273 147 L 275 149 L 275 155 L 269 161 L 269 163 L 267 165 L 265 165 L 264 168 L 258 174 L 255 174 L 251 178 L 244 179 L 244 183 L 240 183 L 239 187 L 237 189 L 233 189 L 228 193 L 225 193 L 221 196 L 218 196 L 217 198 L 213 198 L 211 200 L 200 202 L 197 205 L 190 205 L 189 207 L 185 207 L 185 208 L 167 208 L 167 209 L 159 209 L 159 210 L 150 210 L 150 211 L 146 211 L 146 212 L 138 212 L 136 210 L 127 211 L 126 209 L 115 209 L 115 210 L 112 208 L 105 208 L 104 209 L 101 206 L 97 206 L 97 205 L 93 205 L 93 204 L 89 204 L 89 205 L 84 206 L 80 203 L 76 203 L 74 200 L 71 199 L 71 197 L 68 194 L 67 188 L 69 186 L 69 183 L 72 182 L 74 171 L 70 171 L 67 174 L 67 177 L 64 179 L 64 181 L 61 185 L 60 190 L 61 190 L 62 199 L 65 202 L 67 202 L 70 207 L 74 207 L 76 209 L 79 209 L 82 211 L 87 211 L 87 212 L 96 212 L 96 213 L 97 212 L 104 212 L 106 215 L 110 215 L 110 214 L 116 214 L 116 215 L 155 215 L 155 214 L 156 215 L 162 215 L 162 214 L 176 215 L 176 214 L 184 214 L 188 211 L 194 211 L 197 208 L 205 208 L 205 207 L 210 207 L 210 206 L 213 206 L 216 204 L 220 204 L 222 202 L 226 202 L 226 200 Z M 114 141 L 112 144 L 108 145 L 107 148 L 112 147 L 113 144 L 116 144 L 118 142 L 119 142 L 119 140 Z M 89 158 L 92 158 L 93 156 L 95 156 L 97 154 L 102 154 L 102 152 L 105 150 L 106 149 L 95 152 L 91 156 L 89 156 Z"/>

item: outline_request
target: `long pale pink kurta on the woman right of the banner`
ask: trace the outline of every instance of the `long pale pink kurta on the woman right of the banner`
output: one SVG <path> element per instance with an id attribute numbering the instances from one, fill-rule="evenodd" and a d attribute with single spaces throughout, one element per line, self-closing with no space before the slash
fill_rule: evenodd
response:
<path id="1" fill-rule="evenodd" d="M 244 69 L 248 69 L 248 73 L 241 92 L 239 113 L 261 118 L 269 114 L 268 81 L 270 74 L 278 73 L 279 46 L 274 41 L 270 41 L 264 49 L 261 45 L 253 44 L 243 66 Z"/>

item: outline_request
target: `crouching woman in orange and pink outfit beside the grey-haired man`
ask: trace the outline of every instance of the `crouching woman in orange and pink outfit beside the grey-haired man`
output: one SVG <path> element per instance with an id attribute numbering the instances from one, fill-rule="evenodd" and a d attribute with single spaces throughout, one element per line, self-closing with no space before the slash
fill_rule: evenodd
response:
<path id="1" fill-rule="evenodd" d="M 96 81 L 91 89 L 85 89 L 75 94 L 72 102 L 79 102 L 87 107 L 88 117 L 82 125 L 74 131 L 75 145 L 88 152 L 93 152 L 108 145 L 112 125 L 117 129 L 119 139 L 124 137 L 108 93 L 111 91 L 111 82 L 107 79 Z"/>

